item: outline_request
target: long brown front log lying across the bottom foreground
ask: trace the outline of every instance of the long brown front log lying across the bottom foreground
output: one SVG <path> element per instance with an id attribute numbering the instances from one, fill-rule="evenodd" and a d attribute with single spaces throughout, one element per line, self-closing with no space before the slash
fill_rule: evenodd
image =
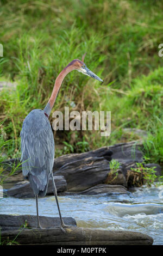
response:
<path id="1" fill-rule="evenodd" d="M 2 243 L 13 241 L 20 245 L 152 245 L 151 236 L 133 231 L 112 231 L 95 228 L 24 229 L 2 231 Z"/>

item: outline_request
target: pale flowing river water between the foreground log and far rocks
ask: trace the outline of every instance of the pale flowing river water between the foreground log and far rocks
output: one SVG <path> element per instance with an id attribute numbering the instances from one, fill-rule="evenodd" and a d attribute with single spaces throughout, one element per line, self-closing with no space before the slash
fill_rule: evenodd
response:
<path id="1" fill-rule="evenodd" d="M 140 231 L 163 245 L 163 186 L 136 188 L 129 194 L 59 196 L 63 217 L 76 219 L 78 227 Z M 36 215 L 35 199 L 0 199 L 0 214 Z M 39 198 L 39 215 L 58 217 L 53 196 Z"/>

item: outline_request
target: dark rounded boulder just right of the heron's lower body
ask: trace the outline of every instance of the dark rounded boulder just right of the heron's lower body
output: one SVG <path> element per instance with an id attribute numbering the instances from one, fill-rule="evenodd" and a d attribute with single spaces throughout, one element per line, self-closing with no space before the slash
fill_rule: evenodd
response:
<path id="1" fill-rule="evenodd" d="M 76 158 L 73 157 L 75 160 Z M 67 191 L 80 192 L 103 183 L 110 172 L 109 161 L 104 157 L 85 157 L 64 164 L 55 173 L 63 175 L 67 181 Z"/>

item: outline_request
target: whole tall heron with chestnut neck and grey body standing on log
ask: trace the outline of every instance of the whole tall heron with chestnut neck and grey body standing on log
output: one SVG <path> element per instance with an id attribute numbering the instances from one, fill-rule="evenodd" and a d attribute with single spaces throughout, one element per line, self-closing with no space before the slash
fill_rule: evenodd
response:
<path id="1" fill-rule="evenodd" d="M 57 188 L 52 172 L 54 163 L 54 137 L 48 117 L 64 77 L 72 70 L 77 70 L 84 75 L 103 82 L 101 78 L 93 74 L 93 72 L 86 67 L 84 56 L 82 61 L 79 59 L 72 60 L 72 62 L 60 72 L 55 80 L 53 92 L 46 107 L 43 110 L 33 109 L 23 121 L 21 131 L 22 172 L 23 176 L 28 177 L 30 186 L 35 194 L 37 228 L 41 228 L 39 222 L 38 196 L 43 197 L 46 195 L 49 178 L 52 178 L 53 193 L 58 206 L 61 229 L 64 231 L 66 227 L 61 217 Z"/>

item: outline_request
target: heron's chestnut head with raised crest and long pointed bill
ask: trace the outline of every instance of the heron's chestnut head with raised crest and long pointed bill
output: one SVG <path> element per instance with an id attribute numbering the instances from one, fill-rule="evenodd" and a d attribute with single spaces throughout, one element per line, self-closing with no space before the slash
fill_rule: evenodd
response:
<path id="1" fill-rule="evenodd" d="M 85 57 L 85 54 L 83 55 L 82 60 L 79 60 L 79 59 L 72 60 L 71 65 L 73 65 L 74 69 L 77 70 L 78 72 L 82 72 L 86 76 L 90 76 L 98 81 L 103 82 L 101 78 L 99 78 L 97 75 L 95 75 L 91 70 L 87 68 L 87 66 L 84 63 L 84 57 Z"/>

